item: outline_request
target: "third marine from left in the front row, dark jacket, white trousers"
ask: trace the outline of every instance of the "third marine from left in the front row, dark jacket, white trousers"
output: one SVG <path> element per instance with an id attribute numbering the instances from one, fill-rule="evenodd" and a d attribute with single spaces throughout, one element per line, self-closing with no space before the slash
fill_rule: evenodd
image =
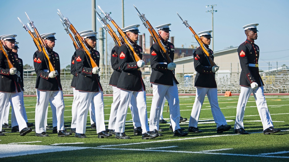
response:
<path id="1" fill-rule="evenodd" d="M 89 48 L 92 59 L 99 65 L 99 52 L 93 49 L 96 46 L 96 34 L 97 32 L 88 32 L 81 34 L 81 37 Z M 79 48 L 75 52 L 75 70 L 78 72 L 75 90 L 78 90 L 79 95 L 75 137 L 86 137 L 86 121 L 91 102 L 94 103 L 98 137 L 110 137 L 112 134 L 106 132 L 104 124 L 103 90 L 98 75 L 100 68 L 91 67 L 90 59 L 83 49 Z"/>

